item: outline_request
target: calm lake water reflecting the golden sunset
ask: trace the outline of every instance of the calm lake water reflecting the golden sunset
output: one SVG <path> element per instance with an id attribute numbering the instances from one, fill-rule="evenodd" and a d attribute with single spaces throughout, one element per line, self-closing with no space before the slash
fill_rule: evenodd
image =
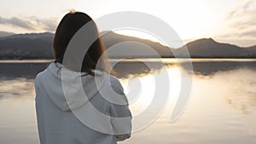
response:
<path id="1" fill-rule="evenodd" d="M 171 81 L 170 100 L 160 117 L 146 129 L 120 143 L 147 144 L 255 144 L 256 143 L 256 60 L 193 60 L 177 65 L 165 60 Z M 153 74 L 161 75 L 158 60 L 126 60 L 115 66 L 125 93 L 133 84 L 143 85 L 141 96 L 131 101 L 133 115 L 147 107 L 152 93 Z M 47 61 L 0 62 L 0 143 L 37 144 L 38 130 L 34 107 L 33 78 Z M 182 117 L 170 122 L 183 77 L 193 75 L 189 105 Z M 128 95 L 129 96 L 129 95 Z M 131 100 L 131 97 L 128 97 Z"/>

